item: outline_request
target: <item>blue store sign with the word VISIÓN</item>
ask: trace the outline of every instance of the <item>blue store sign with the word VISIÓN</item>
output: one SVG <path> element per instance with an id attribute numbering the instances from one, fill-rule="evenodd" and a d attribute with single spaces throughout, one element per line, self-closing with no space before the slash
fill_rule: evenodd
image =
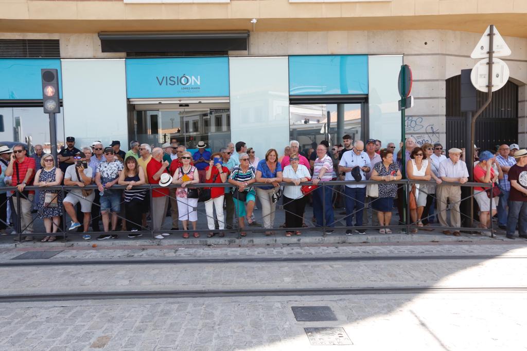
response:
<path id="1" fill-rule="evenodd" d="M 229 96 L 227 57 L 127 58 L 128 98 Z"/>

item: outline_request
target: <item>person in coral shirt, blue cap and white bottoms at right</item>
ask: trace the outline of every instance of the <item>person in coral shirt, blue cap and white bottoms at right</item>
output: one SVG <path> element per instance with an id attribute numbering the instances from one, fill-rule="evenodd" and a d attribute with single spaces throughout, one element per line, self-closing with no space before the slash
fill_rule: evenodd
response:
<path id="1" fill-rule="evenodd" d="M 496 214 L 496 203 L 492 195 L 492 190 L 497 187 L 496 180 L 499 174 L 495 174 L 492 164 L 494 163 L 494 155 L 490 151 L 484 151 L 480 154 L 480 162 L 474 166 L 474 182 L 477 183 L 492 183 L 490 188 L 491 196 L 487 195 L 489 188 L 474 187 L 474 198 L 477 206 L 480 207 L 480 228 L 488 229 L 491 226 L 492 217 Z M 492 204 L 492 205 L 491 205 Z M 492 214 L 491 212 L 492 206 Z"/>

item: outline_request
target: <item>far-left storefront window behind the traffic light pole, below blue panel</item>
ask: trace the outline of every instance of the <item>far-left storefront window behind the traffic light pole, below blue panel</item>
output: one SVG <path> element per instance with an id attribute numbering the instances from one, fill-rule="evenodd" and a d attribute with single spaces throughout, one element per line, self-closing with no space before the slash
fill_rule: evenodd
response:
<path id="1" fill-rule="evenodd" d="M 0 132 L 2 142 L 26 143 L 26 137 L 31 137 L 31 144 L 41 144 L 44 152 L 50 152 L 50 120 L 42 107 L 2 107 L 0 116 L 3 119 L 3 132 Z M 64 145 L 64 118 L 62 113 L 56 114 L 57 149 Z M 75 135 L 72 135 L 75 136 Z"/>

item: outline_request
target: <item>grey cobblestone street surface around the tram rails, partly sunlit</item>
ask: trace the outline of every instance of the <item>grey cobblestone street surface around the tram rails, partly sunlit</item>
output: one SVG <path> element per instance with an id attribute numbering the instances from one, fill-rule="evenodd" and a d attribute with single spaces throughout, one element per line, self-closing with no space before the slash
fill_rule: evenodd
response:
<path id="1" fill-rule="evenodd" d="M 21 250 L 6 250 L 6 261 Z M 516 258 L 356 262 L 1 267 L 0 295 L 75 291 L 375 286 L 527 286 L 527 246 L 68 249 L 53 259 L 280 256 Z M 14 261 L 11 261 L 14 262 Z M 297 322 L 291 306 L 329 306 Z M 0 304 L 0 350 L 520 350 L 525 293 L 114 299 Z M 305 327 L 343 327 L 353 345 L 313 346 Z"/>

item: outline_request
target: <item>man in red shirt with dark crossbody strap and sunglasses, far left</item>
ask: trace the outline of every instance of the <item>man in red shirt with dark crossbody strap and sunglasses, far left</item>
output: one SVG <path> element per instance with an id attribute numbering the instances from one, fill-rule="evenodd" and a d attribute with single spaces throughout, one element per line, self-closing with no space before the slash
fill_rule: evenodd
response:
<path id="1" fill-rule="evenodd" d="M 30 234 L 25 237 L 26 241 L 33 240 L 33 217 L 31 216 L 31 208 L 35 192 L 33 190 L 24 191 L 26 185 L 33 184 L 35 176 L 35 159 L 33 157 L 26 157 L 26 148 L 22 144 L 17 144 L 13 147 L 13 154 L 11 155 L 11 162 L 5 170 L 6 176 L 11 176 L 12 184 L 16 186 L 16 191 L 11 192 L 13 195 L 14 211 L 17 213 L 18 201 L 20 202 L 20 217 L 21 230 L 24 234 Z"/>

